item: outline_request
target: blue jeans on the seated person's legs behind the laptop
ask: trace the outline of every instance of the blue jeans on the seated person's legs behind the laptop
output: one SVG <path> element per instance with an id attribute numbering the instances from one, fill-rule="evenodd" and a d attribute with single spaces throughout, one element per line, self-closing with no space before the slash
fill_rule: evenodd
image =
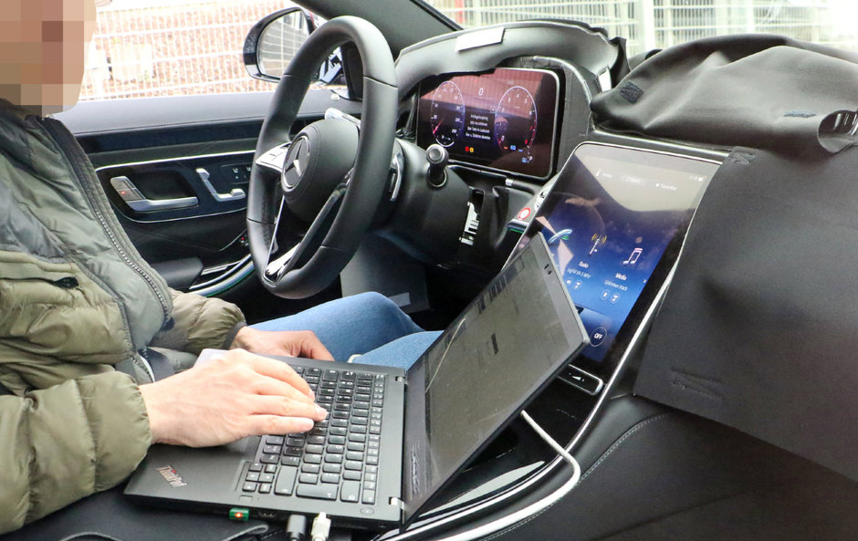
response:
<path id="1" fill-rule="evenodd" d="M 392 301 L 361 293 L 253 326 L 261 330 L 311 330 L 334 356 L 346 361 L 407 369 L 440 331 L 424 331 Z"/>

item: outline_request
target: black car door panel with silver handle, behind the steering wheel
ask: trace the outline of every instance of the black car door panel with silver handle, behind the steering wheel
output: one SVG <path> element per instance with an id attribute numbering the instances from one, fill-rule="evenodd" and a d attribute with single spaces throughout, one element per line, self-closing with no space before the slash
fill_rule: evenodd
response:
<path id="1" fill-rule="evenodd" d="M 246 194 L 256 135 L 272 96 L 82 102 L 58 115 L 88 152 L 131 241 L 171 286 L 210 296 L 230 291 L 240 305 L 259 293 L 256 286 L 243 287 L 236 298 L 235 286 L 253 274 Z M 360 113 L 339 98 L 311 90 L 293 133 L 335 101 L 338 109 Z"/>

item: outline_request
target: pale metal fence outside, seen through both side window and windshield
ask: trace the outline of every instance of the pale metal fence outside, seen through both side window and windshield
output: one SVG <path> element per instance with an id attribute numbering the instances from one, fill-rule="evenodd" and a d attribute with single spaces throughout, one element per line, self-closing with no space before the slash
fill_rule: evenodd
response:
<path id="1" fill-rule="evenodd" d="M 390 0 L 363 0 L 386 2 Z M 404 0 L 403 0 L 404 1 Z M 628 39 L 630 53 L 769 32 L 858 49 L 855 0 L 429 0 L 462 26 L 563 18 Z M 248 77 L 247 31 L 283 0 L 115 0 L 99 14 L 82 99 L 270 90 Z M 850 14 L 852 16 L 850 16 Z"/>

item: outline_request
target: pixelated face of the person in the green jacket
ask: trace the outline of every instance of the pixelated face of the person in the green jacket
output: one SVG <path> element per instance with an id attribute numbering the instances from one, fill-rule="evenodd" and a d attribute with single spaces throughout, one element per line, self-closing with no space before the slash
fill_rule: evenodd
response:
<path id="1" fill-rule="evenodd" d="M 40 115 L 73 106 L 95 30 L 96 0 L 2 2 L 0 98 Z"/>

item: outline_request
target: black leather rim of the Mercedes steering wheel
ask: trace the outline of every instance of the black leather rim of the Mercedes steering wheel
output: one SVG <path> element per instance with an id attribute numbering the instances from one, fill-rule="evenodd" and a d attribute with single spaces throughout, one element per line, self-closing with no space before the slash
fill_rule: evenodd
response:
<path id="1" fill-rule="evenodd" d="M 298 253 L 307 248 L 305 241 L 310 233 L 322 227 L 320 223 L 327 220 L 330 229 L 322 232 L 324 239 L 318 248 L 303 265 L 295 266 L 298 260 L 298 255 L 295 255 L 277 272 L 277 276 L 271 276 L 267 267 L 271 264 L 272 239 L 277 234 L 280 214 L 286 212 L 288 202 L 282 196 L 280 175 L 277 175 L 277 182 L 272 182 L 273 175 L 259 166 L 257 160 L 290 141 L 289 129 L 298 116 L 298 108 L 316 68 L 331 50 L 347 42 L 357 48 L 363 67 L 361 130 L 354 165 L 347 185 L 341 184 L 339 192 L 335 190 L 331 196 L 341 196 L 339 211 L 332 223 L 330 217 L 321 215 L 331 211 L 330 205 L 326 204 L 310 225 L 304 240 L 296 246 Z M 256 275 L 268 291 L 279 297 L 310 297 L 329 286 L 351 260 L 382 200 L 390 170 L 397 107 L 398 88 L 390 47 L 382 33 L 368 21 L 354 16 L 330 19 L 310 34 L 298 49 L 277 85 L 271 109 L 263 122 L 247 197 L 250 254 Z M 284 163 L 284 171 L 288 169 L 288 160 L 289 157 Z M 306 180 L 301 179 L 300 182 Z M 312 239 L 307 242 L 312 243 Z"/>

